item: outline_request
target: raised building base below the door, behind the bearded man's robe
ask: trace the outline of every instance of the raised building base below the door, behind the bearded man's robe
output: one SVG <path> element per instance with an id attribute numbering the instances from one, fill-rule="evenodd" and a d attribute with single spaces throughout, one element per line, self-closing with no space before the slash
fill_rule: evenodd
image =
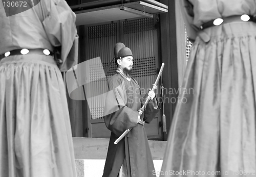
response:
<path id="1" fill-rule="evenodd" d="M 77 177 L 102 176 L 109 139 L 73 137 Z M 160 174 L 166 141 L 148 141 L 157 172 Z"/>

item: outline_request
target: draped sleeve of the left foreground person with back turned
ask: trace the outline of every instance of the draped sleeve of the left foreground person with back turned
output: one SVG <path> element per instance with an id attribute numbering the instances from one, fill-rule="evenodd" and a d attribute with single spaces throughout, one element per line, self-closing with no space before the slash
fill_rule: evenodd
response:
<path id="1" fill-rule="evenodd" d="M 78 35 L 75 26 L 76 15 L 66 1 L 41 1 L 44 21 L 42 24 L 54 47 L 61 46 L 62 64 L 59 69 L 67 71 L 77 64 Z"/>

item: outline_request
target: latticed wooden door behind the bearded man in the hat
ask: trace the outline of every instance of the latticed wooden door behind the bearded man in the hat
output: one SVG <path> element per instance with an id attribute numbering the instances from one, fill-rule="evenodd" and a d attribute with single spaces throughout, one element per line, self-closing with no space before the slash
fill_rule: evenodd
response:
<path id="1" fill-rule="evenodd" d="M 134 56 L 132 77 L 138 81 L 141 93 L 144 95 L 152 87 L 157 77 L 159 65 L 157 29 L 153 18 L 113 21 L 108 24 L 87 26 L 86 60 L 100 57 L 105 68 L 114 57 L 114 46 L 117 42 L 123 42 L 131 48 Z M 95 66 L 94 66 L 95 67 Z M 94 70 L 97 70 L 94 68 Z M 91 91 L 100 94 L 107 87 L 107 79 L 116 71 L 115 63 L 106 75 L 106 78 L 97 80 L 92 84 Z M 94 72 L 93 74 L 100 74 Z M 93 75 L 92 75 L 93 77 Z M 157 96 L 160 90 L 158 87 Z M 103 120 L 104 105 L 101 103 L 104 96 L 91 103 L 93 107 L 87 114 L 89 137 L 109 138 L 110 132 L 105 128 Z M 88 109 L 89 110 L 89 109 Z M 145 125 L 149 139 L 161 139 L 161 115 L 160 113 L 150 123 Z"/>

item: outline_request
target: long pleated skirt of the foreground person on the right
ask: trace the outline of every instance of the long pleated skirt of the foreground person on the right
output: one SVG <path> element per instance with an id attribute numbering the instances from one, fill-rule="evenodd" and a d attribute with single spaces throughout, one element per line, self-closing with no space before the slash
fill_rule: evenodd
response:
<path id="1" fill-rule="evenodd" d="M 198 36 L 191 49 L 161 176 L 255 176 L 256 23 L 204 32 L 210 41 Z"/>

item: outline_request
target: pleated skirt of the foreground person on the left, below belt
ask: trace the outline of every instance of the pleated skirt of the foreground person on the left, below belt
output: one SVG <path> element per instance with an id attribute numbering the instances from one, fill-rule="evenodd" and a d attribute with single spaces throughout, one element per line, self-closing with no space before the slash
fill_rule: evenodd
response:
<path id="1" fill-rule="evenodd" d="M 76 176 L 65 85 L 51 56 L 0 61 L 0 176 Z"/>

